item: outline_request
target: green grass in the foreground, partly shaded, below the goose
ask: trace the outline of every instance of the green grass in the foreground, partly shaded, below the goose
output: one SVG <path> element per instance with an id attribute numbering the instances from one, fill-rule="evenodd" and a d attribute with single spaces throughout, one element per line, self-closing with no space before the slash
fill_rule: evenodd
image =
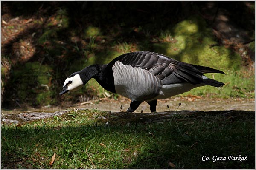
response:
<path id="1" fill-rule="evenodd" d="M 96 109 L 2 125 L 2 168 L 254 168 L 254 114 L 110 114 Z M 137 115 L 137 116 L 136 116 Z M 106 118 L 106 119 L 105 119 Z M 52 166 L 49 162 L 56 153 Z M 202 156 L 247 156 L 202 161 Z"/>

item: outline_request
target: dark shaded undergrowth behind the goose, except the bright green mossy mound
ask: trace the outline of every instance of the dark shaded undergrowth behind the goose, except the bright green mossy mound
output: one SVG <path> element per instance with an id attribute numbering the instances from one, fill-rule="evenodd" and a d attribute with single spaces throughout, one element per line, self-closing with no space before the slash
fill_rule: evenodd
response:
<path id="1" fill-rule="evenodd" d="M 227 48 L 230 56 L 239 54 L 231 63 L 254 68 L 254 2 L 2 2 L 1 12 L 3 108 L 98 97 L 101 90 L 94 84 L 82 90 L 83 96 L 81 91 L 65 97 L 58 93 L 65 78 L 86 65 L 130 51 L 168 54 L 165 43 L 177 42 L 168 31 L 191 16 L 210 28 L 213 45 Z M 224 23 L 218 24 L 221 17 Z M 163 44 L 161 50 L 154 43 Z M 231 88 L 238 93 L 233 97 L 251 91 Z"/>

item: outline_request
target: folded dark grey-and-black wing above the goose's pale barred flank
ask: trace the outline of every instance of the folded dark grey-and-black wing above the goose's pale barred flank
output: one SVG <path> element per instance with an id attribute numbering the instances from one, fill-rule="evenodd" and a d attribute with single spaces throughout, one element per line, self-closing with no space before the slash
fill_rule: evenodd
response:
<path id="1" fill-rule="evenodd" d="M 179 62 L 175 59 L 169 58 L 163 54 L 157 54 L 147 51 L 138 51 L 123 54 L 112 62 L 122 62 L 124 65 L 131 65 L 132 67 L 139 67 L 148 70 L 154 76 L 162 80 L 164 84 L 175 84 L 189 82 L 191 84 L 200 84 L 203 82 L 204 72 L 218 71 L 212 68 L 187 64 L 185 62 Z M 212 69 L 212 70 L 211 70 Z"/>

